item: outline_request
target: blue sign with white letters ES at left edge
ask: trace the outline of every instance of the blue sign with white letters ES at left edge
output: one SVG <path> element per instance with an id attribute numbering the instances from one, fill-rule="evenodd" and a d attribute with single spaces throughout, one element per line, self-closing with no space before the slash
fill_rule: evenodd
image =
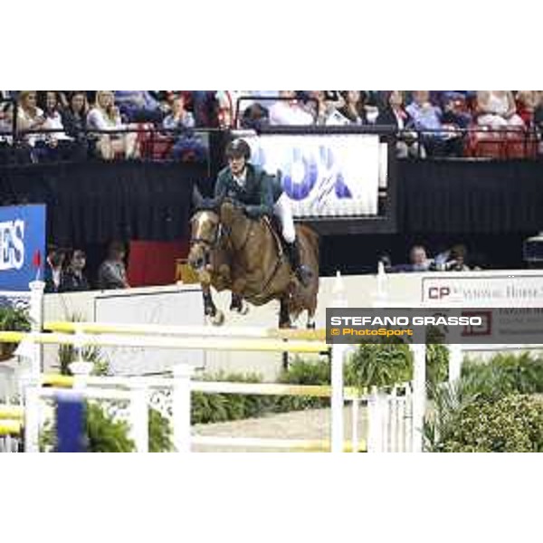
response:
<path id="1" fill-rule="evenodd" d="M 45 205 L 0 207 L 0 291 L 43 280 L 45 256 Z"/>

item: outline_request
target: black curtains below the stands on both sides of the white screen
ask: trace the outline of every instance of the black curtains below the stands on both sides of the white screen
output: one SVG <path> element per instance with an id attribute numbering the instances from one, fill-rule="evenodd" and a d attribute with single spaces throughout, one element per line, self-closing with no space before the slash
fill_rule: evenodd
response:
<path id="1" fill-rule="evenodd" d="M 61 244 L 185 238 L 191 195 L 212 193 L 215 167 L 88 162 L 0 168 L 0 204 L 47 205 L 48 239 Z M 397 234 L 543 230 L 543 162 L 402 161 Z"/>

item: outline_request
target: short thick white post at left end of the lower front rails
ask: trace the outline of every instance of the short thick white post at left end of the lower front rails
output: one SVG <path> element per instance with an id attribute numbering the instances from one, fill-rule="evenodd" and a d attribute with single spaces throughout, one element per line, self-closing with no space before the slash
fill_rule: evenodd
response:
<path id="1" fill-rule="evenodd" d="M 176 364 L 173 369 L 173 433 L 174 447 L 176 452 L 191 451 L 191 431 L 190 431 L 190 378 L 193 373 L 193 367 L 188 364 Z"/>

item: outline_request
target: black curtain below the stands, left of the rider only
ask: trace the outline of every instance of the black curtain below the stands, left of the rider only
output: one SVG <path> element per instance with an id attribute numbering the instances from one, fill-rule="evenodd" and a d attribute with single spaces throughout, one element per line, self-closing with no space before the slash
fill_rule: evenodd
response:
<path id="1" fill-rule="evenodd" d="M 111 239 L 185 238 L 197 183 L 209 191 L 207 167 L 179 163 L 101 163 L 5 167 L 2 205 L 47 205 L 47 238 L 60 244 Z"/>

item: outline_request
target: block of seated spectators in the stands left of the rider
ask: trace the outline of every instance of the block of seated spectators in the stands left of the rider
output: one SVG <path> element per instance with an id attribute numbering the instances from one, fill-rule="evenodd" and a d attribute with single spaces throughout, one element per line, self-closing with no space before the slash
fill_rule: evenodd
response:
<path id="1" fill-rule="evenodd" d="M 207 117 L 195 115 L 195 101 L 187 101 L 194 98 L 193 94 L 149 90 L 3 91 L 0 151 L 15 151 L 17 162 L 89 157 L 205 161 L 207 144 L 195 127 L 208 126 Z"/>

